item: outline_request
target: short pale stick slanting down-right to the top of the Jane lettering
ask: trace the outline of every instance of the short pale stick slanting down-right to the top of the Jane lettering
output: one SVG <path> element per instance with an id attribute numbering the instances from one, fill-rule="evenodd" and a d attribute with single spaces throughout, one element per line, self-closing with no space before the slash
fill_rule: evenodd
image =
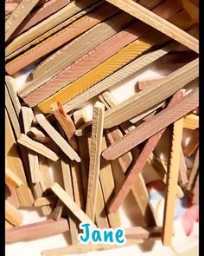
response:
<path id="1" fill-rule="evenodd" d="M 54 183 L 52 187 L 50 187 L 54 194 L 56 194 L 63 203 L 69 208 L 69 210 L 81 221 L 81 222 L 90 222 L 92 220 L 84 213 L 80 207 L 78 207 L 73 199 L 64 191 L 64 189 L 58 184 Z M 93 223 L 92 223 L 93 224 Z M 94 224 L 93 224 L 94 225 Z"/>

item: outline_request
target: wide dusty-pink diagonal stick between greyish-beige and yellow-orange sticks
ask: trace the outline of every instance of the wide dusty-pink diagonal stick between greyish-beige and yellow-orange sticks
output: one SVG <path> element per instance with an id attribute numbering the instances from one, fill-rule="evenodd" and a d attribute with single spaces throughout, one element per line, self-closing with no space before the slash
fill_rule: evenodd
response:
<path id="1" fill-rule="evenodd" d="M 157 6 L 153 11 L 165 18 L 169 18 L 169 16 L 172 16 L 176 10 L 180 10 L 181 8 L 180 4 L 171 4 L 171 8 L 168 9 L 169 12 L 163 12 L 164 9 L 166 10 L 169 7 L 169 2 L 169 0 L 165 1 Z M 143 35 L 148 30 L 150 30 L 150 26 L 142 22 L 136 21 L 132 23 L 126 29 L 119 31 L 116 35 L 105 40 L 104 43 L 101 43 L 95 49 L 92 49 L 92 51 L 90 51 L 88 54 L 82 56 L 79 60 L 67 66 L 66 69 L 61 70 L 60 73 L 55 75 L 45 84 L 38 84 L 36 85 L 38 88 L 35 86 L 27 90 L 27 99 L 25 98 L 25 95 L 21 94 L 21 96 L 24 98 L 23 101 L 29 104 L 30 99 L 30 101 L 32 101 L 32 105 L 42 102 L 48 98 L 48 96 L 53 95 L 56 91 L 62 89 L 68 83 L 73 82 L 82 75 L 85 75 L 88 71 L 116 54 L 118 50 L 136 40 L 137 37 Z"/>

